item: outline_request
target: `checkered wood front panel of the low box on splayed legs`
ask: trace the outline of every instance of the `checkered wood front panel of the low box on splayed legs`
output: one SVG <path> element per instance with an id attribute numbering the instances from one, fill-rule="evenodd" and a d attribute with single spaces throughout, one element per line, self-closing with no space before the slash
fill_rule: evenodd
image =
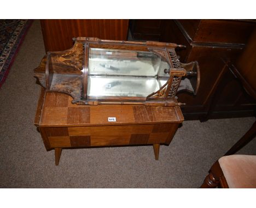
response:
<path id="1" fill-rule="evenodd" d="M 178 124 L 46 127 L 45 143 L 50 148 L 104 145 L 170 144 Z"/>

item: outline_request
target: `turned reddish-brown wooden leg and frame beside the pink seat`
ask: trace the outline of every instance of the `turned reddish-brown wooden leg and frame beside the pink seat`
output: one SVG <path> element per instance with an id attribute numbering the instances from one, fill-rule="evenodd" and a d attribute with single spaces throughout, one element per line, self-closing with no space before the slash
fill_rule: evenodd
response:
<path id="1" fill-rule="evenodd" d="M 216 188 L 217 186 L 229 187 L 218 161 L 213 164 L 200 188 Z"/>

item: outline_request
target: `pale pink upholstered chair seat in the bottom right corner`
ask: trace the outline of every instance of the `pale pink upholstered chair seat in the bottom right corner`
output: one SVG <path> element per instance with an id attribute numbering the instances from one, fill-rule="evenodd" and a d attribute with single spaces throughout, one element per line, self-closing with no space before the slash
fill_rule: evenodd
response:
<path id="1" fill-rule="evenodd" d="M 229 188 L 256 188 L 256 155 L 229 155 L 219 158 Z"/>

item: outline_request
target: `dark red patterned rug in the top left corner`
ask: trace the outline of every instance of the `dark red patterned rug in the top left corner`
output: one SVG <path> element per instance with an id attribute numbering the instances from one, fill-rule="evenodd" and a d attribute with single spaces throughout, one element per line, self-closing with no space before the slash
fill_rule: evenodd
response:
<path id="1" fill-rule="evenodd" d="M 32 20 L 0 20 L 0 87 L 31 23 Z"/>

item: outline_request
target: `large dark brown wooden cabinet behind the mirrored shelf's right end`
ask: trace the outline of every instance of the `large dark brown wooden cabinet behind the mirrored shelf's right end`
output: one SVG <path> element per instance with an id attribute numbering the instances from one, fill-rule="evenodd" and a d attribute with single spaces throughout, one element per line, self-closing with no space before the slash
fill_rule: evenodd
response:
<path id="1" fill-rule="evenodd" d="M 196 60 L 200 66 L 201 81 L 197 95 L 177 94 L 178 100 L 187 104 L 182 107 L 185 119 L 203 119 L 212 102 L 216 105 L 209 118 L 253 115 L 255 101 L 246 94 L 229 67 L 237 64 L 255 25 L 255 21 L 249 20 L 161 20 L 159 41 L 187 46 L 176 50 L 181 62 Z M 247 55 L 243 62 L 253 63 L 254 59 L 253 55 Z M 222 90 L 218 100 L 213 101 L 219 84 Z"/>

